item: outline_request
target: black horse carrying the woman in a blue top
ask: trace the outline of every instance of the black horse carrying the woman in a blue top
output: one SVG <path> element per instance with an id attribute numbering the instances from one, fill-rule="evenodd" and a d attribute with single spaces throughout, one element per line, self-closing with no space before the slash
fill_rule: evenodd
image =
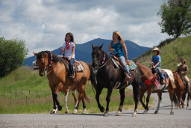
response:
<path id="1" fill-rule="evenodd" d="M 117 68 L 112 61 L 112 57 L 109 57 L 106 52 L 102 50 L 103 44 L 101 46 L 93 46 L 92 45 L 92 76 L 91 82 L 96 91 L 96 101 L 99 110 L 104 113 L 105 116 L 108 115 L 109 112 L 109 104 L 110 98 L 112 95 L 113 89 L 119 89 L 120 93 L 120 104 L 118 108 L 118 113 L 122 112 L 124 99 L 125 99 L 125 88 L 129 83 L 124 82 L 125 73 L 122 68 Z M 136 85 L 136 82 L 131 82 L 133 86 L 133 96 L 134 96 L 134 112 L 133 116 L 137 113 L 137 105 L 139 101 L 139 88 Z M 100 94 L 103 88 L 107 89 L 106 96 L 106 109 L 100 103 Z"/>

